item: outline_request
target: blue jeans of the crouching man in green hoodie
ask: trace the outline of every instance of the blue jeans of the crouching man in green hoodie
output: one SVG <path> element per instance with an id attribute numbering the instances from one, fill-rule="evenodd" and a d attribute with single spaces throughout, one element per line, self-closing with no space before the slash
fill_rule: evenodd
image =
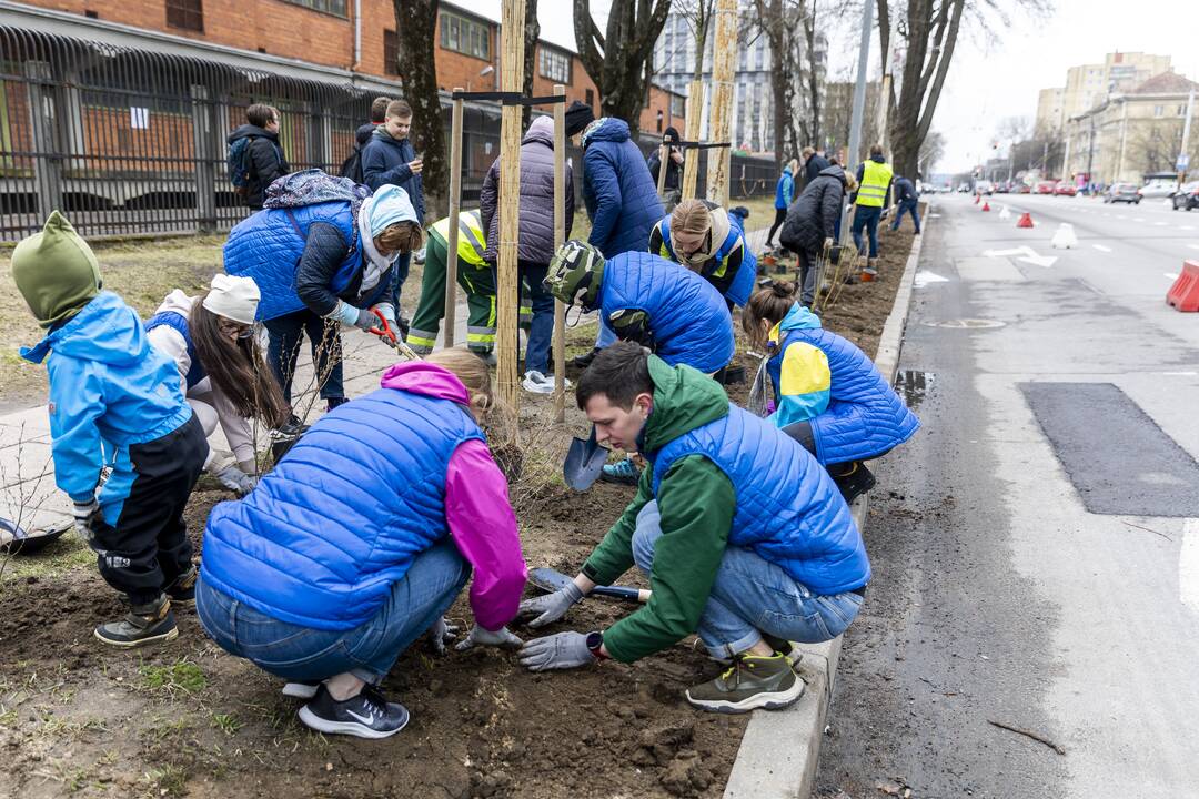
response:
<path id="1" fill-rule="evenodd" d="M 662 535 L 658 503 L 637 514 L 633 561 L 649 576 L 653 546 Z M 819 643 L 845 631 L 862 606 L 851 592 L 818 597 L 782 567 L 740 546 L 724 550 L 707 605 L 695 632 L 713 658 L 731 658 L 769 632 L 788 641 Z"/>

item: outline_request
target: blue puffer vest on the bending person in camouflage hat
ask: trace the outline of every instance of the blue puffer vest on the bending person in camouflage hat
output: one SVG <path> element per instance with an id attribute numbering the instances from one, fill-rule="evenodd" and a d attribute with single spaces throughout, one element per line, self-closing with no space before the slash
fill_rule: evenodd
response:
<path id="1" fill-rule="evenodd" d="M 710 374 L 733 359 L 733 317 L 724 298 L 674 261 L 645 252 L 605 260 L 598 303 L 604 319 L 622 309 L 644 310 L 653 351 L 671 367 L 685 363 Z"/>

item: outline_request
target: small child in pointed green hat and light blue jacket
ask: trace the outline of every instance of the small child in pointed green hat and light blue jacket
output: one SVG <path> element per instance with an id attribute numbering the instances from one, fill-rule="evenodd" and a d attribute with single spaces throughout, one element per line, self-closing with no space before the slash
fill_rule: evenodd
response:
<path id="1" fill-rule="evenodd" d="M 49 356 L 54 482 L 74 503 L 101 576 L 129 605 L 96 637 L 118 647 L 169 641 L 179 635 L 171 604 L 194 595 L 183 509 L 209 454 L 204 429 L 137 313 L 100 290 L 96 255 L 66 217 L 55 211 L 17 244 L 12 277 L 47 331 L 20 356 Z"/>

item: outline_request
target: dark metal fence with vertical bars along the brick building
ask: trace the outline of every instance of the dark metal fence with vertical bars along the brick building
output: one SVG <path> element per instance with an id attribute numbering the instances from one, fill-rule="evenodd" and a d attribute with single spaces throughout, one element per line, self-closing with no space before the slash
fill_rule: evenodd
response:
<path id="1" fill-rule="evenodd" d="M 229 181 L 225 137 L 248 105 L 279 109 L 279 143 L 294 169 L 336 172 L 373 97 L 0 26 L 0 241 L 35 232 L 54 208 L 90 237 L 228 230 L 248 210 Z M 442 111 L 448 131 L 448 107 Z M 463 129 L 463 195 L 471 201 L 499 155 L 499 107 L 468 108 Z M 643 143 L 646 152 L 653 146 Z M 574 164 L 580 155 L 567 152 Z M 773 190 L 769 161 L 734 156 L 731 174 L 735 196 Z M 705 175 L 701 164 L 700 192 Z"/>

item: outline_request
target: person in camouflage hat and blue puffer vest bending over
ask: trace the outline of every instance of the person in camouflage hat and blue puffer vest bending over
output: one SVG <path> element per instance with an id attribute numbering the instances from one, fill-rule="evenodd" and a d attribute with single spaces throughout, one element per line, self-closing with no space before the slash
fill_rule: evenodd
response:
<path id="1" fill-rule="evenodd" d="M 617 339 L 650 347 L 670 367 L 687 364 L 713 375 L 736 350 L 733 317 L 721 292 L 691 270 L 651 253 L 605 260 L 591 244 L 572 240 L 550 262 L 546 287 L 567 308 L 578 301 L 583 310 L 598 309 Z M 635 485 L 637 466 L 629 459 L 608 464 L 601 479 Z"/>

